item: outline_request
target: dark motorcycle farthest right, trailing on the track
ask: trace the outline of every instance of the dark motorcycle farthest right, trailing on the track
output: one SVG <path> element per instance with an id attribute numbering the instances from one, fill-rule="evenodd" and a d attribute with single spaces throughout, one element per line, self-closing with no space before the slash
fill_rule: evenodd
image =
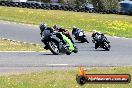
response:
<path id="1" fill-rule="evenodd" d="M 95 49 L 97 48 L 103 48 L 107 51 L 110 50 L 110 42 L 108 41 L 108 39 L 106 38 L 106 36 L 104 36 L 104 34 L 95 34 L 93 37 L 93 43 L 95 43 Z"/>

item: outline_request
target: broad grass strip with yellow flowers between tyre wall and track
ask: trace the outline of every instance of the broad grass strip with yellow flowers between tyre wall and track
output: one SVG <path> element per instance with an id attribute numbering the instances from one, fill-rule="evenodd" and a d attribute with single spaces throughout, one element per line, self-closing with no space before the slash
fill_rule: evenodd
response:
<path id="1" fill-rule="evenodd" d="M 88 32 L 96 29 L 112 36 L 132 38 L 132 17 L 125 15 L 0 7 L 0 19 L 35 25 L 43 21 L 49 26 L 59 24 L 65 28 L 75 25 Z"/>

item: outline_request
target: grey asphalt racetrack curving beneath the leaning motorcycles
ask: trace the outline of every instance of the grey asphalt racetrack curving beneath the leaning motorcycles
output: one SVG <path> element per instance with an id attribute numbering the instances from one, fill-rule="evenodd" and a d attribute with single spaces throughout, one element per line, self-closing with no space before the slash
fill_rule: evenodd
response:
<path id="1" fill-rule="evenodd" d="M 38 27 L 0 21 L 0 37 L 23 42 L 42 44 Z M 53 65 L 70 66 L 128 66 L 132 65 L 132 39 L 108 37 L 111 50 L 94 49 L 91 37 L 89 44 L 77 43 L 77 54 L 52 55 L 50 52 L 0 52 L 0 67 L 26 68 Z M 42 44 L 43 45 L 43 44 Z M 0 69 L 1 69 L 0 68 Z"/>

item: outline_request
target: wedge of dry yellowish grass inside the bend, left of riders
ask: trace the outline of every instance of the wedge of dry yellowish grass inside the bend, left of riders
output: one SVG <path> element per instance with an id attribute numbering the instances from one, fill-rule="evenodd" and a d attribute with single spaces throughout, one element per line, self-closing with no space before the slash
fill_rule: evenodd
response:
<path id="1" fill-rule="evenodd" d="M 0 39 L 0 51 L 43 51 L 39 45 L 17 43 L 9 40 Z"/>

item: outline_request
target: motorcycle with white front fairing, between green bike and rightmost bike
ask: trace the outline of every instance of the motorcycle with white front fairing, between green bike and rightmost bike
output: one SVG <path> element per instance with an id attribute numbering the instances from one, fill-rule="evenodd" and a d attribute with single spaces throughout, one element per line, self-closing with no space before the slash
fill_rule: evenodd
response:
<path id="1" fill-rule="evenodd" d="M 86 37 L 86 35 L 84 34 L 83 31 L 78 30 L 76 32 L 72 32 L 72 34 L 74 35 L 75 40 L 78 40 L 81 43 L 84 43 L 84 42 L 89 43 L 89 41 L 87 40 L 87 37 Z"/>

